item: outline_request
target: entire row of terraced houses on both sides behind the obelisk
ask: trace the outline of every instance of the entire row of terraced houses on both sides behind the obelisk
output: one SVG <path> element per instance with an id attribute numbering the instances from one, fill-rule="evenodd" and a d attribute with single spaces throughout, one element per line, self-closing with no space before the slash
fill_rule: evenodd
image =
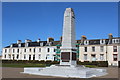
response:
<path id="1" fill-rule="evenodd" d="M 20 40 L 15 44 L 11 44 L 3 48 L 2 60 L 44 60 L 56 61 L 58 44 L 61 41 L 54 41 L 48 38 L 47 41 L 37 40 L 32 42 L 26 40 L 22 43 Z M 79 45 L 79 57 L 77 60 L 84 61 L 108 61 L 111 66 L 118 66 L 120 61 L 120 37 L 113 37 L 109 34 L 108 39 L 92 39 L 87 40 L 82 36 L 81 40 L 76 41 Z M 58 60 L 59 61 L 59 60 Z"/>

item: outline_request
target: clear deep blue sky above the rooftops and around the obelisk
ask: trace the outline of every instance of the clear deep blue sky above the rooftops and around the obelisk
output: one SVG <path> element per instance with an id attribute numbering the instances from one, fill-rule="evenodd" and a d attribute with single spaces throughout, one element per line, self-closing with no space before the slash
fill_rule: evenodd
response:
<path id="1" fill-rule="evenodd" d="M 65 8 L 74 9 L 76 39 L 118 36 L 118 3 L 115 2 L 8 2 L 2 5 L 3 47 L 38 38 L 47 40 L 62 36 Z"/>

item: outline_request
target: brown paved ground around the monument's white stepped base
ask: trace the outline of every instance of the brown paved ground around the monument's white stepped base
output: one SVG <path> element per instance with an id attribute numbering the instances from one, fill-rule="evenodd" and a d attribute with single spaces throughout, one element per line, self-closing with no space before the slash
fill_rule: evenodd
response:
<path id="1" fill-rule="evenodd" d="M 103 67 L 101 67 L 103 68 Z M 104 67 L 107 69 L 107 75 L 96 77 L 96 78 L 118 78 L 118 67 Z M 2 78 L 60 78 L 60 77 L 51 77 L 51 76 L 40 76 L 40 75 L 29 75 L 23 74 L 23 68 L 12 68 L 12 67 L 3 67 L 2 68 Z"/>

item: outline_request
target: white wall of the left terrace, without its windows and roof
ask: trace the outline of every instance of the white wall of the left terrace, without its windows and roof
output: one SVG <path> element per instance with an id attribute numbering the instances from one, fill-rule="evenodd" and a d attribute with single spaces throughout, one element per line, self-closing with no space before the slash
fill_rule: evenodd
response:
<path id="1" fill-rule="evenodd" d="M 35 52 L 34 52 L 35 48 Z M 39 52 L 39 48 L 41 48 L 41 52 Z M 47 48 L 50 49 L 50 52 L 47 52 Z M 7 52 L 5 53 L 5 49 Z M 11 51 L 9 52 L 9 49 Z M 15 52 L 13 53 L 13 49 Z M 17 52 L 17 49 L 19 49 L 19 53 Z M 26 49 L 26 52 L 24 50 Z M 31 52 L 29 51 L 31 49 Z M 19 48 L 3 48 L 2 52 L 2 59 L 3 60 L 13 60 L 13 56 L 9 58 L 8 55 L 13 55 L 14 54 L 14 60 L 29 60 L 29 55 L 31 55 L 31 60 L 33 60 L 33 55 L 35 55 L 35 60 L 52 60 L 54 61 L 54 55 L 56 52 L 54 52 L 54 49 L 56 49 L 56 46 L 47 46 L 47 47 L 19 47 Z M 17 59 L 17 54 L 19 55 L 19 58 Z M 49 54 L 50 57 L 49 59 L 46 59 L 46 55 Z M 6 55 L 6 58 L 5 58 Z M 24 55 L 26 55 L 26 58 L 24 59 Z M 41 55 L 39 59 L 39 55 Z"/>

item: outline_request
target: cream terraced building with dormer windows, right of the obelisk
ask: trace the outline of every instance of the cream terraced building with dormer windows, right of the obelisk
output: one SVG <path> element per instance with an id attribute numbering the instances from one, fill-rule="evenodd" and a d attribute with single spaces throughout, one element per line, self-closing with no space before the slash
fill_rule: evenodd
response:
<path id="1" fill-rule="evenodd" d="M 82 37 L 79 47 L 79 61 L 108 61 L 108 65 L 118 66 L 120 38 L 109 34 L 109 39 L 87 40 Z"/>

